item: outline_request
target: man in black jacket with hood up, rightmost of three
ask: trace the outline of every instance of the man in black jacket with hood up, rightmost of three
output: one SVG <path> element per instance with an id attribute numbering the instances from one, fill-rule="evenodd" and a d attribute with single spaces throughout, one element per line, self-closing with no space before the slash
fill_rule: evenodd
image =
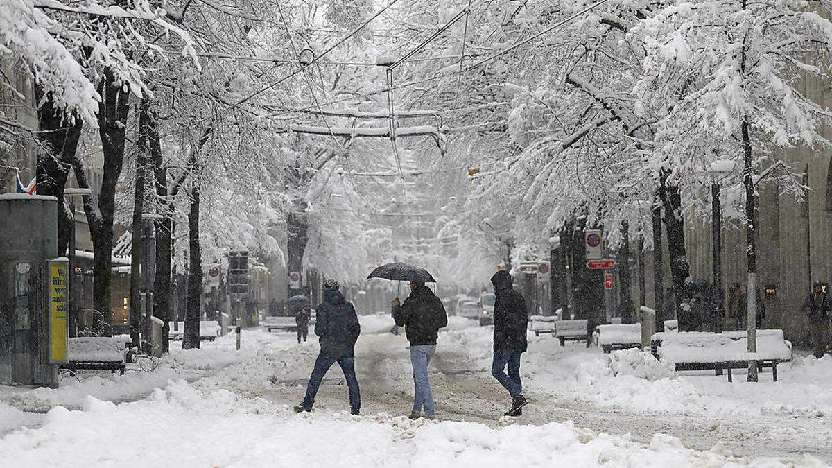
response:
<path id="1" fill-rule="evenodd" d="M 527 349 L 526 329 L 528 310 L 522 294 L 512 286 L 508 271 L 498 271 L 491 277 L 494 285 L 494 359 L 491 375 L 512 396 L 512 407 L 505 416 L 521 416 L 526 398 L 522 396 L 520 356 Z M 508 375 L 504 369 L 508 365 Z"/>

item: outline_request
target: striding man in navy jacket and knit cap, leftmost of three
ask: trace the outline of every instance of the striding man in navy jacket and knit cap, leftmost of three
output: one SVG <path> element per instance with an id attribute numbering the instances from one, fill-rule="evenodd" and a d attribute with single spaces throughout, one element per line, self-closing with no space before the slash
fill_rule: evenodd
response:
<path id="1" fill-rule="evenodd" d="M 355 307 L 344 300 L 339 291 L 338 281 L 329 279 L 324 283 L 324 301 L 317 308 L 314 334 L 319 336 L 320 352 L 314 361 L 314 369 L 306 386 L 304 401 L 295 406 L 295 411 L 312 411 L 314 396 L 318 393 L 320 381 L 324 379 L 335 362 L 344 371 L 349 386 L 349 410 L 358 415 L 361 408 L 359 381 L 355 378 L 355 341 L 361 334 L 359 317 Z"/>

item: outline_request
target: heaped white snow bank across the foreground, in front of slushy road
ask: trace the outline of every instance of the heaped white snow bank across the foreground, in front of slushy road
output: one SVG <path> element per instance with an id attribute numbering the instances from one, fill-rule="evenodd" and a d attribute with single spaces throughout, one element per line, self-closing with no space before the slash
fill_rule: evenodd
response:
<path id="1" fill-rule="evenodd" d="M 108 437 L 102 444 L 102 434 Z M 198 435 L 198 436 L 195 436 Z M 152 447 L 152 450 L 148 450 Z M 820 466 L 695 451 L 671 436 L 650 444 L 572 424 L 510 425 L 348 416 L 246 400 L 171 382 L 146 401 L 88 398 L 57 407 L 37 429 L 0 438 L 0 466 Z"/>

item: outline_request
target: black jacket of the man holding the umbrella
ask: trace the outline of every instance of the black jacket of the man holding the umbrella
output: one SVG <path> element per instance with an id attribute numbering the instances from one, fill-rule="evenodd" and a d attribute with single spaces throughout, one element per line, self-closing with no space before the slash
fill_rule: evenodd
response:
<path id="1" fill-rule="evenodd" d="M 428 286 L 418 286 L 401 306 L 394 306 L 393 320 L 404 326 L 410 346 L 435 345 L 439 329 L 448 326 L 445 306 Z"/>

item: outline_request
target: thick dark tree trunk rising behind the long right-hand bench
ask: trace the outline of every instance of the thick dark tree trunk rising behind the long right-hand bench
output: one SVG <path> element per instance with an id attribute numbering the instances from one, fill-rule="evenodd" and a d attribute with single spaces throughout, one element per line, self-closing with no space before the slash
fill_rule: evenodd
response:
<path id="1" fill-rule="evenodd" d="M 691 288 L 688 278 L 691 266 L 687 262 L 685 249 L 685 220 L 681 216 L 681 194 L 679 187 L 667 183 L 670 172 L 659 172 L 659 197 L 664 208 L 664 222 L 667 231 L 667 255 L 671 262 L 673 294 L 676 296 L 676 316 L 679 319 L 679 331 L 696 331 L 698 320 L 691 313 Z"/>

